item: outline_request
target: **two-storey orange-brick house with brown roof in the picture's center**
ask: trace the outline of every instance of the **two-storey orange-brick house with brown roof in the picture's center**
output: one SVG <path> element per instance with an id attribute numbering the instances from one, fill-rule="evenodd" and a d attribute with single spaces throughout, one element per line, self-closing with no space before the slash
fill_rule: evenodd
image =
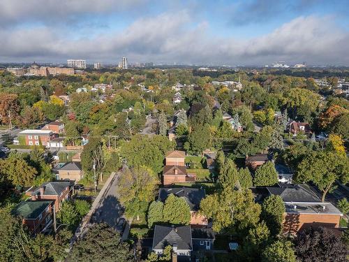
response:
<path id="1" fill-rule="evenodd" d="M 186 172 L 186 152 L 174 150 L 168 152 L 163 167 L 163 184 L 195 182 L 196 174 Z"/>

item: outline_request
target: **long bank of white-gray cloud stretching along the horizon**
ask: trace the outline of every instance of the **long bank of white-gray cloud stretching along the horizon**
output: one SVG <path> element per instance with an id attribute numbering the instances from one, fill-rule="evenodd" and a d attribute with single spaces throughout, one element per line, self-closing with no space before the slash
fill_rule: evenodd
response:
<path id="1" fill-rule="evenodd" d="M 191 25 L 189 27 L 188 25 Z M 92 39 L 70 39 L 48 25 L 34 29 L 0 30 L 3 61 L 89 62 L 130 61 L 200 64 L 269 64 L 273 61 L 307 61 L 309 64 L 349 64 L 349 33 L 331 17 L 298 17 L 270 34 L 250 41 L 215 38 L 209 24 L 195 24 L 188 11 L 163 13 L 136 20 L 121 32 Z"/>

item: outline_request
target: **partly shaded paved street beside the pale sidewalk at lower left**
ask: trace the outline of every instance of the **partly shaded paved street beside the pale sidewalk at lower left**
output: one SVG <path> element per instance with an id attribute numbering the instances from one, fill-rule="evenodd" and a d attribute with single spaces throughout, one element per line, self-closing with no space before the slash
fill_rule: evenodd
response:
<path id="1" fill-rule="evenodd" d="M 110 183 L 110 187 L 105 191 L 104 196 L 101 198 L 99 205 L 96 208 L 94 214 L 92 214 L 92 223 L 105 222 L 112 227 L 117 226 L 119 217 L 124 214 L 124 208 L 121 206 L 117 197 L 117 180 L 118 174 Z"/>

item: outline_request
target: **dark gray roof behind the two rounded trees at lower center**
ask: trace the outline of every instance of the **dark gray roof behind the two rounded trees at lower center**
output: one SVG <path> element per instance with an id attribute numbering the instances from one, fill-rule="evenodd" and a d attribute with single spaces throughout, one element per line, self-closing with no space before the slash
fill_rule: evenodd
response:
<path id="1" fill-rule="evenodd" d="M 165 202 L 168 195 L 174 194 L 177 197 L 184 197 L 192 211 L 199 210 L 202 198 L 205 198 L 205 189 L 190 187 L 161 187 L 158 192 L 158 200 Z"/>

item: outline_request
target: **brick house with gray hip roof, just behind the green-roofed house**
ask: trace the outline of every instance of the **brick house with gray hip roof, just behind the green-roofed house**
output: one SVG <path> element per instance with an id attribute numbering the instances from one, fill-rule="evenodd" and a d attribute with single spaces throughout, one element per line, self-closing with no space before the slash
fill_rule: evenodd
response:
<path id="1" fill-rule="evenodd" d="M 31 187 L 26 195 L 31 201 L 53 201 L 55 211 L 61 208 L 61 203 L 68 200 L 73 194 L 73 185 L 70 182 L 45 182 L 40 187 Z"/>

